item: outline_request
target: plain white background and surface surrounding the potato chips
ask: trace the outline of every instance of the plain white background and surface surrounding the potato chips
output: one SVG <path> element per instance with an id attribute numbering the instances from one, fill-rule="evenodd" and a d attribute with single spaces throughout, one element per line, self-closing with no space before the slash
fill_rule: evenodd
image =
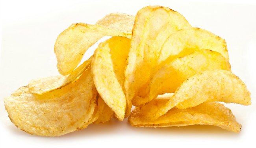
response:
<path id="1" fill-rule="evenodd" d="M 250 1 L 1 1 L 0 147 L 230 147 L 255 146 L 256 5 Z M 54 43 L 72 23 L 94 24 L 111 12 L 135 15 L 142 7 L 161 5 L 184 15 L 192 26 L 226 39 L 232 71 L 252 92 L 252 105 L 226 104 L 241 133 L 214 126 L 134 128 L 112 119 L 61 137 L 38 137 L 19 130 L 7 117 L 3 98 L 33 78 L 57 75 Z M 105 38 L 106 39 L 106 38 Z M 101 40 L 103 41 L 103 40 Z M 86 52 L 86 59 L 97 45 Z M 249 145 L 252 144 L 252 145 Z"/>

